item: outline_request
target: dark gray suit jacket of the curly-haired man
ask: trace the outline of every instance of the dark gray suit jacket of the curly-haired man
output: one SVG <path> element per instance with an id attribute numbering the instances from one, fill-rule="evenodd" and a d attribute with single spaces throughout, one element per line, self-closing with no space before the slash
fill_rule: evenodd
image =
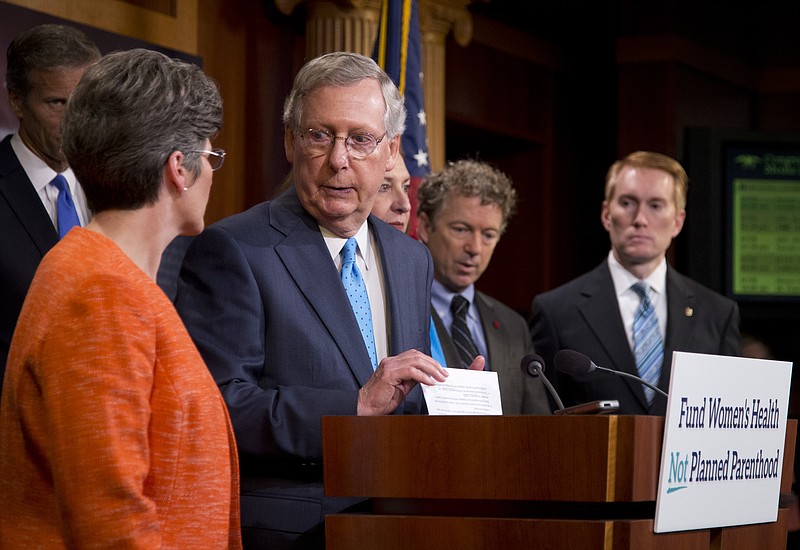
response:
<path id="1" fill-rule="evenodd" d="M 552 408 L 544 385 L 520 369 L 522 359 L 533 353 L 525 318 L 480 291 L 475 291 L 475 305 L 486 338 L 489 369 L 497 372 L 503 414 L 550 414 Z M 448 366 L 460 365 L 453 338 L 435 310 L 431 309 L 431 315 Z"/>

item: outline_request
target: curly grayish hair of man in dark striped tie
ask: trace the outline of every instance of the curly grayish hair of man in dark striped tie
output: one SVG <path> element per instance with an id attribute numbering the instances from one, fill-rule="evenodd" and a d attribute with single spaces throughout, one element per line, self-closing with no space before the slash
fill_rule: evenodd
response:
<path id="1" fill-rule="evenodd" d="M 478 160 L 450 162 L 444 170 L 425 176 L 417 190 L 417 214 L 424 213 L 434 224 L 445 199 L 450 195 L 480 197 L 481 204 L 497 206 L 503 213 L 501 233 L 517 211 L 517 192 L 511 178 Z"/>

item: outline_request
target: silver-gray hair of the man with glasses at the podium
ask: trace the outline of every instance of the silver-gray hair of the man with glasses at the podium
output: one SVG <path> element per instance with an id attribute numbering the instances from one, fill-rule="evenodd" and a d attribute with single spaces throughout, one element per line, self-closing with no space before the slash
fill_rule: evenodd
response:
<path id="1" fill-rule="evenodd" d="M 307 62 L 294 79 L 294 86 L 283 104 L 283 123 L 293 132 L 301 130 L 306 98 L 326 86 L 354 86 L 365 78 L 381 85 L 386 112 L 383 125 L 389 139 L 405 131 L 406 108 L 397 86 L 374 60 L 352 52 L 332 52 Z"/>

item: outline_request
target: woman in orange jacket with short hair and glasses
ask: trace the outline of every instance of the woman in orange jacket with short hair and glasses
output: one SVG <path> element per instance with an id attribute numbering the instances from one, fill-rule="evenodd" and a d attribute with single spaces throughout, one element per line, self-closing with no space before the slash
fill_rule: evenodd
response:
<path id="1" fill-rule="evenodd" d="M 0 548 L 241 547 L 227 410 L 155 283 L 203 228 L 221 127 L 216 85 L 148 50 L 107 55 L 71 96 L 62 147 L 94 216 L 44 257 L 12 340 Z"/>

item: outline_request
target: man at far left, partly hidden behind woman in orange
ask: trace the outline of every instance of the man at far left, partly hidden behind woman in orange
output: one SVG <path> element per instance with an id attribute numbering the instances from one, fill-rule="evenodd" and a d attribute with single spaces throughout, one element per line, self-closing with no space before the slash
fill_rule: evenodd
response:
<path id="1" fill-rule="evenodd" d="M 82 225 L 90 212 L 61 152 L 61 117 L 100 51 L 78 29 L 39 25 L 9 45 L 6 89 L 19 130 L 0 142 L 0 385 L 22 302 L 45 253 L 58 242 L 50 182 L 66 178 Z"/>

